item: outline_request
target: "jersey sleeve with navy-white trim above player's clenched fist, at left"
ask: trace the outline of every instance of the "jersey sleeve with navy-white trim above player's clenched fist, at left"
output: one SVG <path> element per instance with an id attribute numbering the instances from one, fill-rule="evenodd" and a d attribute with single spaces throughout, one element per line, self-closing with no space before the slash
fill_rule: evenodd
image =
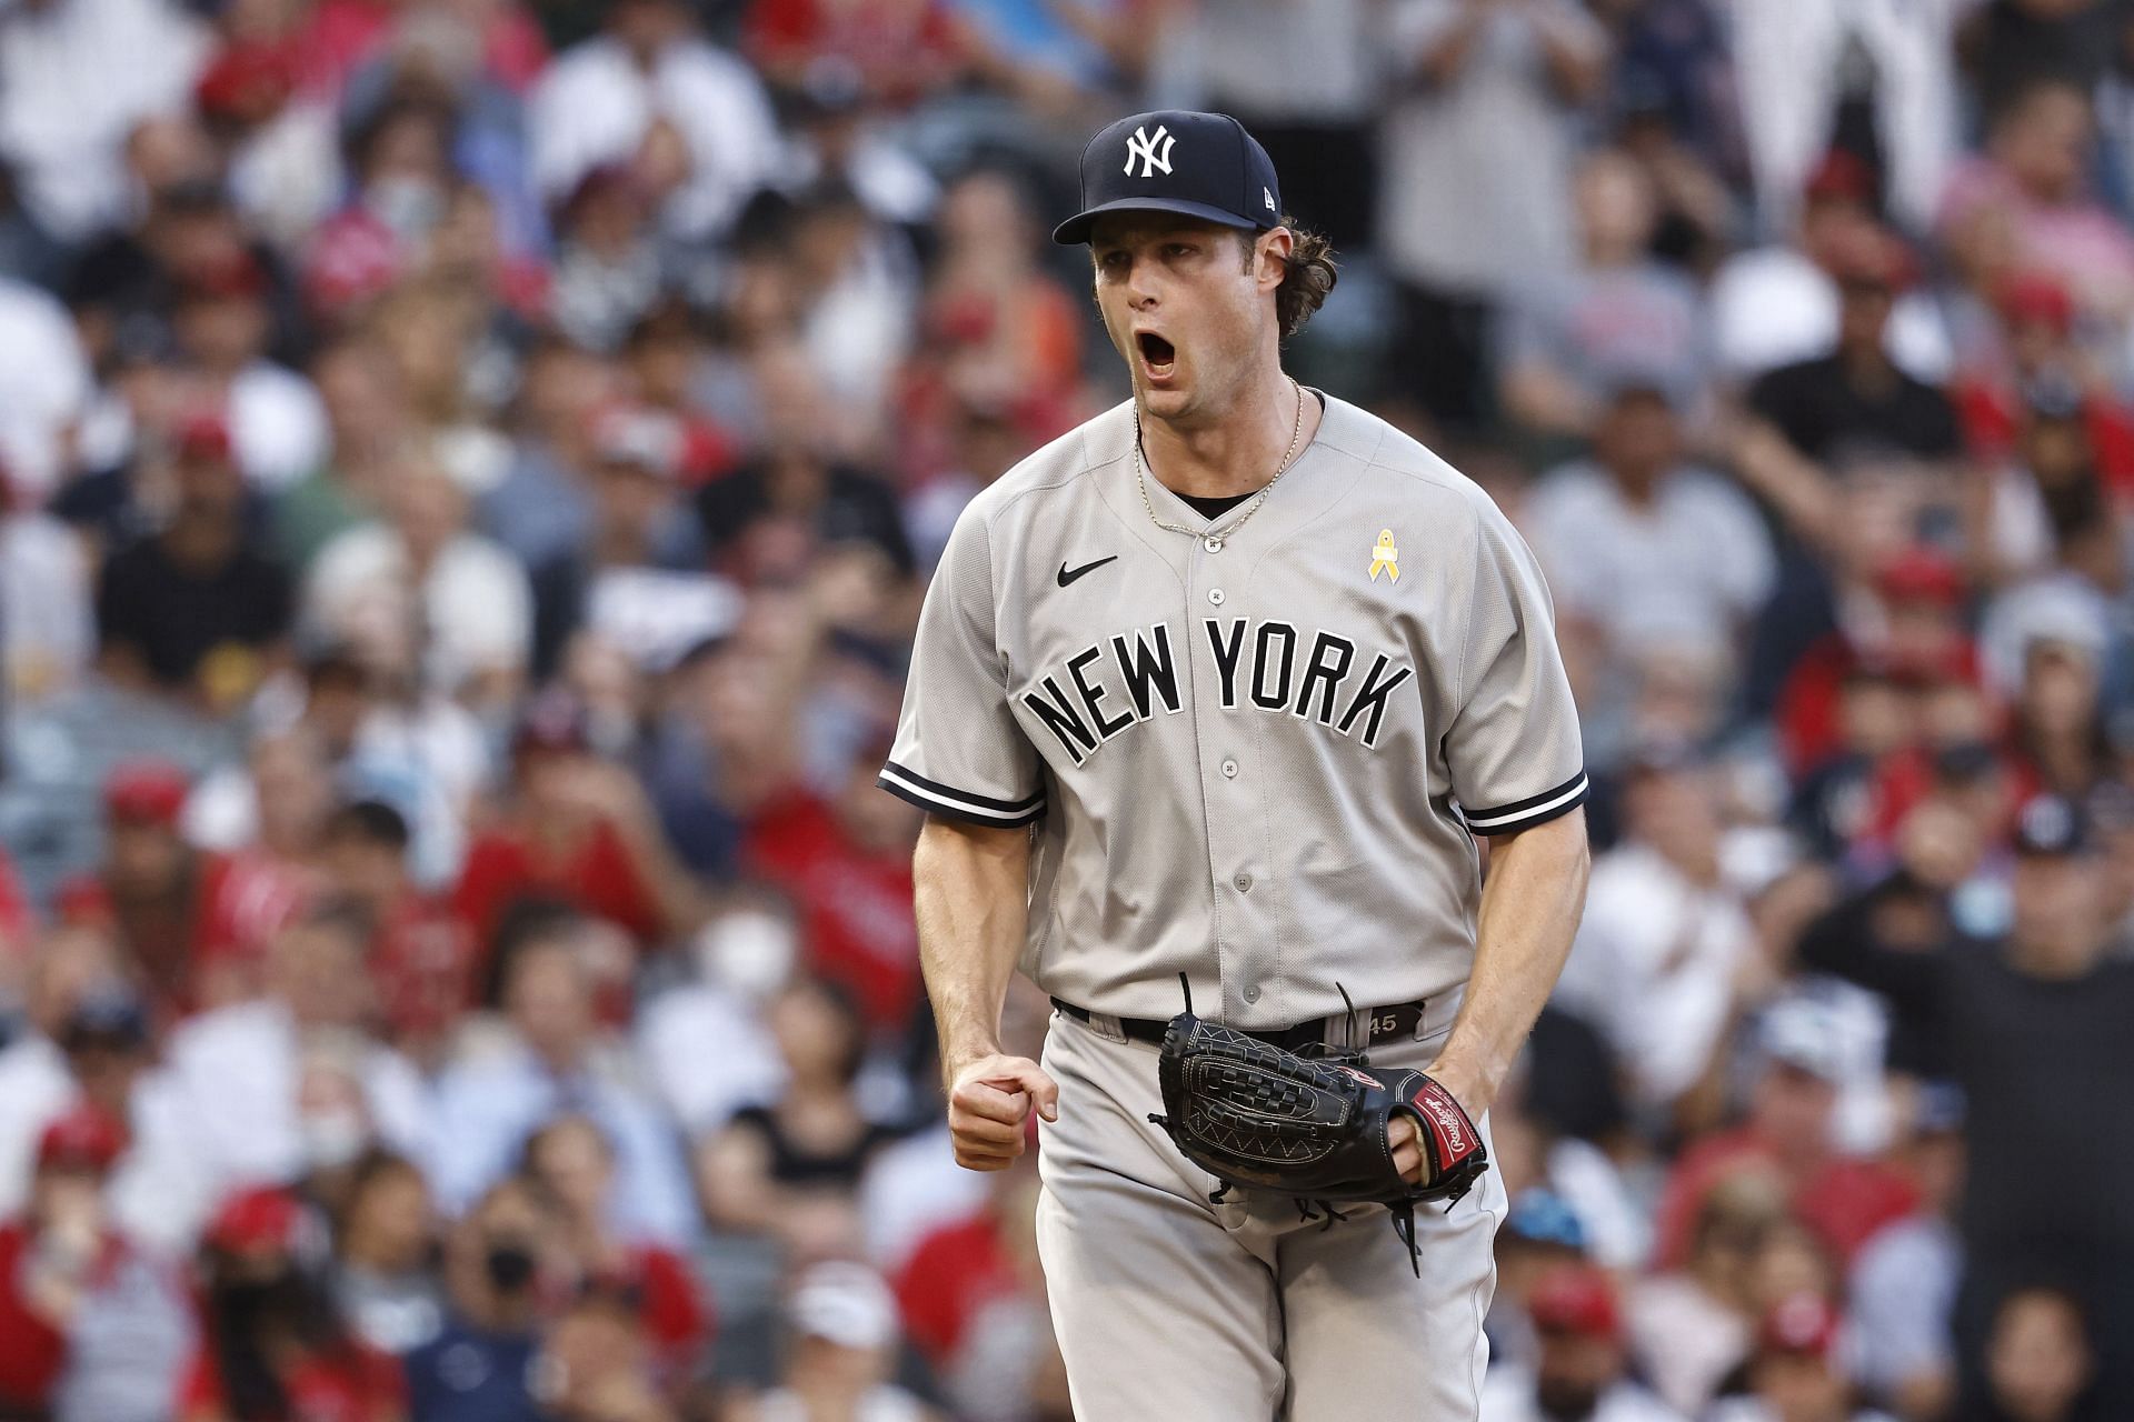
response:
<path id="1" fill-rule="evenodd" d="M 1007 699 L 994 614 L 992 539 L 965 510 L 926 588 L 905 710 L 877 785 L 928 814 L 1012 827 L 1046 812 L 1046 787 Z"/>

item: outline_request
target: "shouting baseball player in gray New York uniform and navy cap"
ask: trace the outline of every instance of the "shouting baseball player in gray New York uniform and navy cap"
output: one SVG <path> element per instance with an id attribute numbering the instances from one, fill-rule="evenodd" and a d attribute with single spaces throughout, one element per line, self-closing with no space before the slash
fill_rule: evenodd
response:
<path id="1" fill-rule="evenodd" d="M 956 522 L 881 770 L 928 812 L 956 1160 L 1003 1168 L 1046 1121 L 1037 1239 L 1086 1422 L 1475 1418 L 1504 1215 L 1477 1138 L 1586 889 L 1549 595 L 1475 484 L 1283 373 L 1334 269 L 1236 119 L 1112 124 L 1082 207 L 1054 239 L 1088 243 L 1133 399 Z M 1041 1064 L 999 1045 L 1018 966 L 1054 1004 Z M 1270 1089 L 1376 1092 L 1349 1145 L 1415 1192 L 1396 1222 L 1453 1187 L 1413 1209 L 1415 1258 L 1317 1177 L 1204 1168 L 1174 1136 L 1193 1083 L 1270 1077 L 1174 1070 L 1172 1019 L 1291 1068 L 1361 1053 Z"/>

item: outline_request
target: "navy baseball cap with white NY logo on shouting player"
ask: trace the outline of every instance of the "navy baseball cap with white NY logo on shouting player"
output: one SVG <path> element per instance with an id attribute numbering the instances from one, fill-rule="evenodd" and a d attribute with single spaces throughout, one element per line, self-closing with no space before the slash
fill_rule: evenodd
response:
<path id="1" fill-rule="evenodd" d="M 1052 241 L 1088 241 L 1099 213 L 1154 211 L 1231 228 L 1283 220 L 1274 160 L 1227 113 L 1157 109 L 1101 130 L 1082 149 L 1082 211 L 1052 228 Z"/>

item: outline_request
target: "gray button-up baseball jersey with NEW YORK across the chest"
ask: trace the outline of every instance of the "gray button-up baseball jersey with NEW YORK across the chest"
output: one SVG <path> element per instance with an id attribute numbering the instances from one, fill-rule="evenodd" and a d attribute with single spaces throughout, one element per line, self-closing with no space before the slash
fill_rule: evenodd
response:
<path id="1" fill-rule="evenodd" d="M 1470 480 L 1325 399 L 1229 537 L 1118 405 L 965 510 L 881 787 L 1035 825 L 1022 968 L 1118 1017 L 1287 1028 L 1466 983 L 1468 831 L 1586 797 L 1532 554 Z M 1336 987 L 1338 985 L 1338 987 Z"/>

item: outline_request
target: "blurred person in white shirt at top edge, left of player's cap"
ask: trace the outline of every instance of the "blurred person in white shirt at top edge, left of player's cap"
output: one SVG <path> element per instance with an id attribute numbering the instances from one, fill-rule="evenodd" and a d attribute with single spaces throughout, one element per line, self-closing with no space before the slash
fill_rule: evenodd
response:
<path id="1" fill-rule="evenodd" d="M 555 203 L 593 168 L 630 160 L 659 119 L 689 147 L 689 179 L 662 213 L 670 237 L 726 232 L 781 177 L 783 143 L 755 70 L 694 34 L 676 0 L 619 0 L 606 32 L 557 55 L 534 90 L 534 181 Z"/>

